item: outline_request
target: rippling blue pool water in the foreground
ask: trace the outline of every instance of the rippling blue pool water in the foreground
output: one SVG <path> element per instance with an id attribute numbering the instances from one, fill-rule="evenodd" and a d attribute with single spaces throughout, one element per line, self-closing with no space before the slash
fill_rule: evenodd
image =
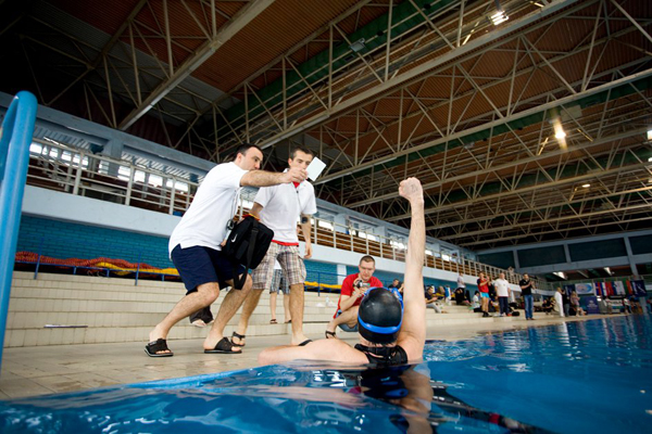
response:
<path id="1" fill-rule="evenodd" d="M 652 321 L 430 342 L 424 362 L 294 363 L 0 401 L 2 433 L 651 432 Z"/>

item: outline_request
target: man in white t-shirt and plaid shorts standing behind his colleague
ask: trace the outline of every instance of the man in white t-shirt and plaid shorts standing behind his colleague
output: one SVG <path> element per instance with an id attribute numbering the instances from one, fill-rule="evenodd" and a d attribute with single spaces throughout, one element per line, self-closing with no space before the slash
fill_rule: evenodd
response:
<path id="1" fill-rule="evenodd" d="M 313 152 L 305 148 L 296 148 L 288 158 L 289 169 L 305 170 L 313 159 Z M 244 346 L 249 318 L 261 299 L 264 290 L 269 290 L 274 276 L 274 263 L 278 260 L 284 276 L 290 285 L 290 317 L 292 318 L 292 345 L 305 345 L 311 342 L 303 334 L 303 284 L 305 265 L 299 252 L 297 219 L 300 218 L 301 231 L 305 240 L 305 255 L 312 256 L 311 216 L 317 212 L 315 189 L 309 181 L 265 187 L 259 190 L 253 200 L 251 214 L 260 216 L 261 221 L 274 231 L 274 239 L 263 261 L 253 270 L 253 291 L 247 296 L 240 315 L 238 329 L 231 343 Z"/>

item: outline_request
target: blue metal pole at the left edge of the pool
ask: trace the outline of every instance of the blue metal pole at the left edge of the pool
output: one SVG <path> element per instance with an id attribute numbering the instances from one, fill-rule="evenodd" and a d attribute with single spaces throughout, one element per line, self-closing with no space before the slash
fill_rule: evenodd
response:
<path id="1" fill-rule="evenodd" d="M 32 93 L 18 92 L 0 132 L 0 368 L 36 108 Z"/>

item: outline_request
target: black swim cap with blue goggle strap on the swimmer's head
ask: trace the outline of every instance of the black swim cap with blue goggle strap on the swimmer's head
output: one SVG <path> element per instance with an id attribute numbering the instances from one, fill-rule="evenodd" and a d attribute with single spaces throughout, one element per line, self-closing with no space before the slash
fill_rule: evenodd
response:
<path id="1" fill-rule="evenodd" d="M 358 331 L 375 344 L 396 342 L 403 323 L 403 298 L 387 288 L 369 288 L 358 310 Z"/>

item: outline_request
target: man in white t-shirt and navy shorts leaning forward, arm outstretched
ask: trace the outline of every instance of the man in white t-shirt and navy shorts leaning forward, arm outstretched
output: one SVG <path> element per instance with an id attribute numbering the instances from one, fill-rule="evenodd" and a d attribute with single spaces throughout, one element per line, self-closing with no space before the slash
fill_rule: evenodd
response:
<path id="1" fill-rule="evenodd" d="M 174 324 L 197 310 L 210 306 L 220 296 L 220 289 L 233 285 L 234 268 L 222 254 L 222 242 L 236 213 L 241 187 L 267 187 L 301 182 L 308 177 L 297 167 L 283 174 L 258 170 L 263 161 L 261 149 L 242 144 L 231 163 L 213 167 L 201 183 L 181 221 L 170 237 L 170 256 L 177 268 L 186 296 L 149 334 L 145 352 L 150 357 L 171 357 L 167 333 Z M 243 272 L 243 268 L 240 269 Z M 231 290 L 224 297 L 215 322 L 204 340 L 204 353 L 241 353 L 224 337 L 224 328 L 241 306 L 251 290 L 247 277 L 242 290 Z"/>

